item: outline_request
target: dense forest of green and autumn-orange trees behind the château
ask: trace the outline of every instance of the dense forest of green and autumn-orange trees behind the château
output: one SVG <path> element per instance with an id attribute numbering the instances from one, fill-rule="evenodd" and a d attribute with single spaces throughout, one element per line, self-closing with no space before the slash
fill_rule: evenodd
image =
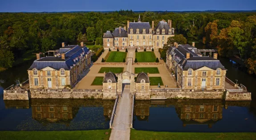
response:
<path id="1" fill-rule="evenodd" d="M 172 20 L 176 35 L 216 48 L 220 56 L 239 56 L 256 73 L 256 12 L 60 12 L 0 13 L 0 71 L 65 44 L 102 44 L 103 33 L 126 26 L 127 20 Z M 156 25 L 155 25 L 156 26 Z M 188 42 L 187 42 L 188 43 Z M 28 53 L 28 55 L 24 55 Z"/>

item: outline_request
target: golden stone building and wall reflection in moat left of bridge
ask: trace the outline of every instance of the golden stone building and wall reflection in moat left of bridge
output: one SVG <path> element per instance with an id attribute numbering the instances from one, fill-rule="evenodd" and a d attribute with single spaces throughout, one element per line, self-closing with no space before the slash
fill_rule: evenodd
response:
<path id="1" fill-rule="evenodd" d="M 103 107 L 103 115 L 110 120 L 114 100 L 97 99 L 32 99 L 5 100 L 5 108 L 30 108 L 32 118 L 41 124 L 58 123 L 69 126 L 80 107 Z"/>

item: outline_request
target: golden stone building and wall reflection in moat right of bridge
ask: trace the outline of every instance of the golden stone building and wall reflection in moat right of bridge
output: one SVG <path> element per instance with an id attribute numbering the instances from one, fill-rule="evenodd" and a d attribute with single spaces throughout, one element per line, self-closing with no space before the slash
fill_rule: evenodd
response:
<path id="1" fill-rule="evenodd" d="M 209 128 L 212 124 L 222 119 L 223 107 L 243 106 L 249 107 L 251 101 L 225 101 L 223 100 L 135 100 L 134 115 L 138 120 L 148 120 L 150 107 L 175 107 L 175 111 L 182 120 L 183 126 L 189 124 L 207 124 Z"/>

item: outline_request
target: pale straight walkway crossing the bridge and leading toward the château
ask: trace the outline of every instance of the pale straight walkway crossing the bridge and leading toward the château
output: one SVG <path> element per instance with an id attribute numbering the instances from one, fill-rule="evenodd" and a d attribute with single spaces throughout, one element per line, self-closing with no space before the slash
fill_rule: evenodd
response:
<path id="1" fill-rule="evenodd" d="M 134 51 L 129 51 L 127 57 L 133 57 L 134 53 Z M 132 71 L 132 61 L 128 62 L 126 71 Z M 118 100 L 110 140 L 130 140 L 131 117 L 132 98 L 130 94 L 130 85 L 126 84 L 122 92 L 122 98 L 119 98 Z"/>

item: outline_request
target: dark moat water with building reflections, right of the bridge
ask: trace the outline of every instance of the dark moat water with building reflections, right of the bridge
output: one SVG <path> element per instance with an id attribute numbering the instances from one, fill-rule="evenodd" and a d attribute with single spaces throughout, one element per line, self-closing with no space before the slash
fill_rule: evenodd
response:
<path id="1" fill-rule="evenodd" d="M 255 132 L 251 101 L 135 100 L 134 128 L 169 132 Z"/>

